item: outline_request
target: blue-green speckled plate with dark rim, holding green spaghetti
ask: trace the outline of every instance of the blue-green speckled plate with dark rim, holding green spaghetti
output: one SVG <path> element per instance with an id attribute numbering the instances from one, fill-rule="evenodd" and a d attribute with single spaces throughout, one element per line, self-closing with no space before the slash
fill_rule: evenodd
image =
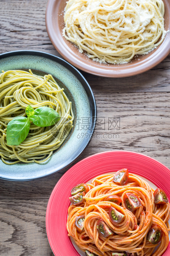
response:
<path id="1" fill-rule="evenodd" d="M 10 69 L 32 69 L 38 75 L 51 73 L 72 101 L 75 119 L 69 137 L 46 163 L 6 165 L 0 160 L 0 178 L 26 181 L 59 172 L 74 162 L 90 142 L 96 123 L 92 89 L 74 66 L 45 52 L 21 50 L 1 54 L 0 72 Z"/>

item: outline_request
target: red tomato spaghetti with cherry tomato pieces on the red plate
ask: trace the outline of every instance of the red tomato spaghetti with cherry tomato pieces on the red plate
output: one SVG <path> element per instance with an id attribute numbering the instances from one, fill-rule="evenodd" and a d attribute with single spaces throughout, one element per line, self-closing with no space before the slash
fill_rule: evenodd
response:
<path id="1" fill-rule="evenodd" d="M 71 191 L 67 230 L 85 255 L 161 256 L 168 247 L 168 198 L 138 175 L 122 169 Z"/>

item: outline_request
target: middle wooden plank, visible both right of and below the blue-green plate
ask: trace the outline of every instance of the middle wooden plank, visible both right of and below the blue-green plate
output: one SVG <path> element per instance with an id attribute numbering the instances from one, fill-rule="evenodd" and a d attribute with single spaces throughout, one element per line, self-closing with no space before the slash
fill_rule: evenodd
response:
<path id="1" fill-rule="evenodd" d="M 170 168 L 170 93 L 96 92 L 95 97 L 98 121 L 94 137 L 77 161 L 99 152 L 121 149 L 147 154 Z M 108 123 L 114 120 L 113 125 Z M 85 136 L 81 130 L 80 136 Z M 0 180 L 0 199 L 47 199 L 67 170 L 38 181 Z"/>

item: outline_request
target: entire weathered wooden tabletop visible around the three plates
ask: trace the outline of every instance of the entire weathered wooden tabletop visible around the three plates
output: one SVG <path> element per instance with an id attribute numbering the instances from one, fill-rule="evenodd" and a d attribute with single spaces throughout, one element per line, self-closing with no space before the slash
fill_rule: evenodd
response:
<path id="1" fill-rule="evenodd" d="M 46 5 L 47 0 L 0 0 L 0 53 L 39 50 L 60 56 L 46 32 Z M 134 77 L 81 73 L 94 92 L 99 122 L 77 161 L 123 149 L 151 156 L 170 168 L 170 55 L 154 69 Z M 109 128 L 110 116 L 119 124 Z M 103 117 L 105 128 L 100 124 Z M 1 256 L 53 255 L 46 235 L 46 206 L 67 170 L 30 182 L 0 180 Z"/>

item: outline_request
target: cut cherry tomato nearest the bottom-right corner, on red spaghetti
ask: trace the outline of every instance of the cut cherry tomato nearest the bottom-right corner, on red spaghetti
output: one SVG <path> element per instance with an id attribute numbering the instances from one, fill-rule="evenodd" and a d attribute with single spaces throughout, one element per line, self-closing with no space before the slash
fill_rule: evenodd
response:
<path id="1" fill-rule="evenodd" d="M 159 225 L 153 225 L 147 233 L 147 240 L 151 244 L 159 244 L 162 238 L 162 229 Z"/>

